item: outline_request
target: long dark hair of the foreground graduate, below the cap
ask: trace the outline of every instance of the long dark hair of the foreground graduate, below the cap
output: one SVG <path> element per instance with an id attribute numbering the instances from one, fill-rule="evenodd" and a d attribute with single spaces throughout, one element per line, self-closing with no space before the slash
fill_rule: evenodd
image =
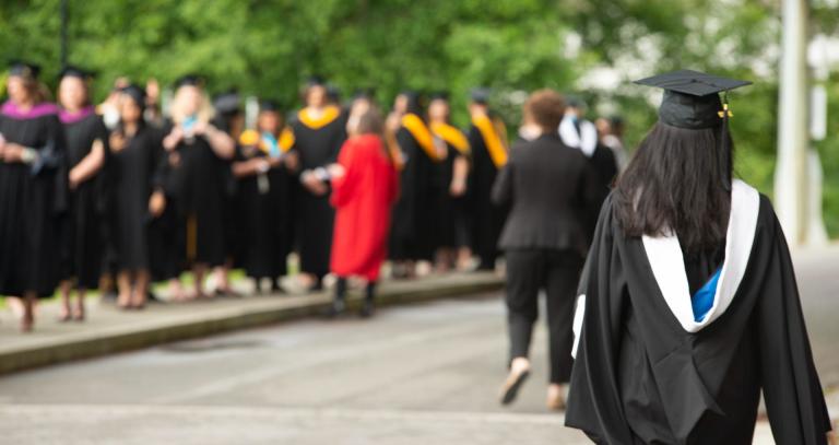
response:
<path id="1" fill-rule="evenodd" d="M 728 139 L 728 148 L 720 138 Z M 688 250 L 717 246 L 725 238 L 731 210 L 725 185 L 731 184 L 733 147 L 731 134 L 720 127 L 690 130 L 655 124 L 615 187 L 615 215 L 624 234 L 675 231 Z"/>

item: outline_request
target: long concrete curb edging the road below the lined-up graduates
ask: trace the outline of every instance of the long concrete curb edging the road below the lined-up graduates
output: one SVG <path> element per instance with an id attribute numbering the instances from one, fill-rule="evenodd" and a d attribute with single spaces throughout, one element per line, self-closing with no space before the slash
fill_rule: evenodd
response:
<path id="1" fill-rule="evenodd" d="M 498 291 L 504 281 L 494 274 L 472 273 L 439 279 L 385 282 L 377 295 L 378 306 L 392 306 L 448 296 Z M 205 311 L 176 320 L 150 320 L 140 326 L 118 327 L 99 332 L 79 332 L 43 344 L 0 350 L 0 374 L 48 366 L 149 348 L 174 341 L 255 328 L 320 315 L 331 295 L 319 293 L 282 296 L 236 308 Z M 357 307 L 361 295 L 351 292 L 348 303 Z M 199 303 L 193 303 L 199 304 Z"/>

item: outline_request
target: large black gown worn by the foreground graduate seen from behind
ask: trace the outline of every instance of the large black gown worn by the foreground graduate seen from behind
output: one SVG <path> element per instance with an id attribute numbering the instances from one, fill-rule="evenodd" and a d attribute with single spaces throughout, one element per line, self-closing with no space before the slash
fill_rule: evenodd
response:
<path id="1" fill-rule="evenodd" d="M 790 254 L 769 200 L 760 196 L 755 208 L 733 300 L 692 333 L 665 302 L 645 244 L 622 234 L 606 199 L 580 282 L 586 311 L 568 426 L 600 444 L 751 444 L 763 389 L 778 444 L 826 443 Z M 686 273 L 714 262 L 704 255 L 713 254 L 687 257 Z"/>

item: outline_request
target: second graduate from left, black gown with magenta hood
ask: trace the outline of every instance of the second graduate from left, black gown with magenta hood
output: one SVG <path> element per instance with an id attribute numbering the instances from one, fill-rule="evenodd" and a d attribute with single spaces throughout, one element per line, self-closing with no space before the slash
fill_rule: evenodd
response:
<path id="1" fill-rule="evenodd" d="M 84 319 L 84 296 L 98 286 L 103 264 L 105 183 L 108 131 L 90 103 L 91 74 L 76 67 L 61 71 L 59 118 L 67 138 L 69 207 L 63 220 L 61 314 L 59 320 Z M 70 292 L 78 301 L 71 309 Z"/>

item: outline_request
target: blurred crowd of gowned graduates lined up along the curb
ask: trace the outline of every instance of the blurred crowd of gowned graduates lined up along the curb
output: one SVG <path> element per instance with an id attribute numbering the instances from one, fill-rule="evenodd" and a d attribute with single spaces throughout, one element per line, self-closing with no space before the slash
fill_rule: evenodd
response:
<path id="1" fill-rule="evenodd" d="M 297 113 L 260 98 L 247 119 L 239 94 L 211 99 L 200 75 L 177 80 L 165 109 L 154 82 L 118 79 L 93 104 L 93 81 L 86 70 L 67 67 L 52 102 L 39 67 L 14 62 L 9 70 L 0 112 L 0 295 L 10 297 L 24 331 L 33 328 L 36 301 L 56 289 L 63 321 L 83 320 L 85 293 L 96 289 L 116 294 L 123 309 L 143 308 L 152 282 L 168 282 L 173 301 L 237 295 L 228 276 L 239 268 L 257 292 L 284 292 L 280 279 L 292 253 L 307 291 L 321 290 L 347 258 L 361 265 L 336 273 L 338 294 L 346 292 L 346 276 L 361 276 L 370 301 L 385 259 L 398 279 L 414 277 L 420 264 L 437 271 L 496 267 L 507 209 L 493 203 L 491 191 L 509 149 L 486 89 L 472 91 L 464 132 L 449 119 L 445 92 L 404 91 L 380 115 L 371 91 L 342 101 L 311 78 Z M 582 119 L 581 104 L 570 105 L 558 132 L 602 173 L 605 197 L 623 159 L 619 132 L 605 127 L 619 122 L 599 122 L 599 132 Z M 342 246 L 335 227 L 339 195 L 352 195 L 339 185 L 359 180 L 346 163 L 361 157 L 341 162 L 353 116 L 362 132 L 377 136 L 398 179 L 345 187 L 361 187 L 361 195 L 385 187 L 382 199 L 392 198 L 371 204 L 383 210 L 343 218 L 344 238 L 378 231 L 370 239 L 380 241 L 369 243 L 380 249 L 363 255 L 357 244 Z M 528 131 L 524 122 L 518 138 L 528 139 Z M 185 271 L 194 289 L 181 284 Z"/>

